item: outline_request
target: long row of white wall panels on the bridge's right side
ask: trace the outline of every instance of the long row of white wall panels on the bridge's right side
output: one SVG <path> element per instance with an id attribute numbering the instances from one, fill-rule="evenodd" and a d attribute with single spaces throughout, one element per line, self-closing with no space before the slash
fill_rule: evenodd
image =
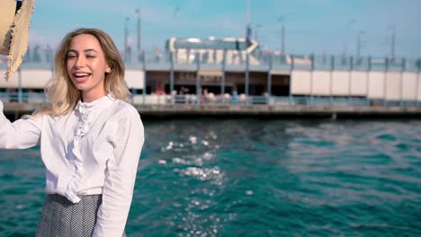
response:
<path id="1" fill-rule="evenodd" d="M 312 83 L 312 85 L 311 85 Z M 418 87 L 418 90 L 417 90 Z M 411 72 L 291 72 L 291 94 L 366 96 L 389 101 L 421 100 L 421 78 Z"/>

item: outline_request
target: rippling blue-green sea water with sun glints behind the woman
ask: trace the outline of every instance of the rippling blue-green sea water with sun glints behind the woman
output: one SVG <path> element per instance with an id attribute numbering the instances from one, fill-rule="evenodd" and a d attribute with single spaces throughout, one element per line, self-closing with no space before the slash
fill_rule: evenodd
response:
<path id="1" fill-rule="evenodd" d="M 145 120 L 129 236 L 421 236 L 421 121 Z M 39 147 L 0 151 L 0 236 L 33 236 Z"/>

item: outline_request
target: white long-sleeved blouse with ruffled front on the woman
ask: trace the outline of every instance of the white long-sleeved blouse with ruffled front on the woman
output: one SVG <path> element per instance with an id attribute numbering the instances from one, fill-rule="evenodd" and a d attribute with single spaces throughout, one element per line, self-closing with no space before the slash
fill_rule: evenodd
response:
<path id="1" fill-rule="evenodd" d="M 73 203 L 78 195 L 103 194 L 93 236 L 121 236 L 129 215 L 144 130 L 139 112 L 110 94 L 79 101 L 63 116 L 11 123 L 0 101 L 0 148 L 40 145 L 46 191 Z"/>

